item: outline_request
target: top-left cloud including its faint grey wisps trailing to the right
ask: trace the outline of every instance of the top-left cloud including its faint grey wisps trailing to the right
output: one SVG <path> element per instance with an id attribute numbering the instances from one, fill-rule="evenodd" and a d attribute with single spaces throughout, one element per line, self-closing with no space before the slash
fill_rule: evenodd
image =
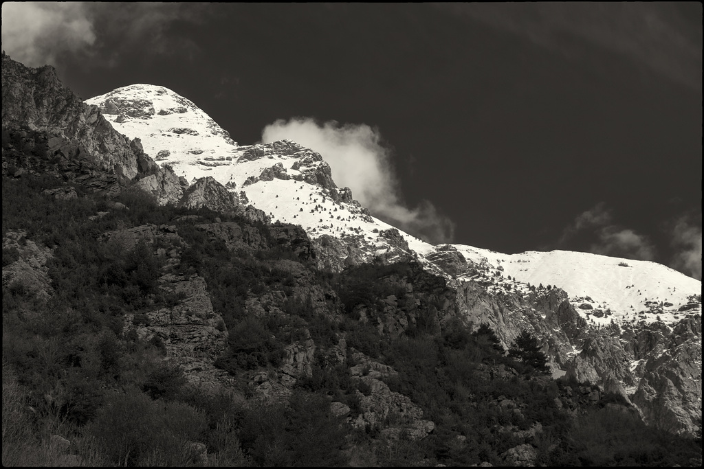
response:
<path id="1" fill-rule="evenodd" d="M 193 58 L 199 47 L 170 34 L 177 20 L 197 22 L 203 6 L 170 3 L 6 2 L 2 6 L 3 50 L 25 65 L 61 68 L 65 56 L 84 65 L 113 67 L 127 52 Z"/>

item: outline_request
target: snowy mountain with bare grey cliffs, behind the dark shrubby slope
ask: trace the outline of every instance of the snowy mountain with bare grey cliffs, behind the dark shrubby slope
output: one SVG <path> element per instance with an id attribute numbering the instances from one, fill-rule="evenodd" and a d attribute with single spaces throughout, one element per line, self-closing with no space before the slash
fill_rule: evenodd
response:
<path id="1" fill-rule="evenodd" d="M 349 188 L 337 188 L 323 155 L 287 140 L 239 146 L 191 101 L 163 86 L 125 86 L 87 103 L 99 106 L 115 129 L 139 138 L 146 153 L 176 174 L 192 180 L 212 176 L 272 220 L 302 226 L 318 248 L 320 268 L 339 271 L 375 259 L 387 263 L 417 259 L 458 288 L 478 283 L 492 297 L 521 297 L 537 285 L 564 290 L 575 317 L 586 320 L 588 328 L 612 331 L 604 333 L 613 342 L 609 350 L 598 354 L 617 355 L 624 364 L 595 363 L 585 351 L 584 338 L 569 334 L 556 341 L 562 342 L 559 345 L 551 345 L 555 339 L 549 337 L 551 332 L 533 326 L 543 332 L 543 346 L 553 358 L 556 375 L 570 373 L 600 385 L 615 379 L 622 394 L 639 400 L 641 410 L 674 387 L 678 391 L 671 392 L 670 399 L 678 409 L 677 418 L 689 421 L 700 416 L 701 395 L 696 391 L 701 383 L 696 371 L 700 332 L 684 344 L 678 343 L 682 339 L 674 332 L 682 321 L 700 323 L 700 281 L 653 262 L 584 252 L 504 255 L 467 245 L 433 246 L 376 219 L 352 199 Z M 455 308 L 478 322 L 467 304 L 458 302 Z M 504 345 L 520 333 L 516 322 L 484 319 L 497 328 Z M 658 345 L 640 344 L 653 329 L 662 334 Z M 693 329 L 700 331 L 700 326 Z M 648 360 L 657 361 L 665 352 L 677 353 L 677 347 L 693 354 L 677 379 L 663 378 L 660 365 L 648 365 Z M 596 361 L 608 360 L 600 356 Z M 673 366 L 671 361 L 667 366 Z"/>

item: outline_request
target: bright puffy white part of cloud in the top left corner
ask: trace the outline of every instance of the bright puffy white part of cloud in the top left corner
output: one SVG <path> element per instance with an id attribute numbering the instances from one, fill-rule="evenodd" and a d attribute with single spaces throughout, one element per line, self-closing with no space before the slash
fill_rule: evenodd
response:
<path id="1" fill-rule="evenodd" d="M 30 67 L 55 64 L 61 53 L 80 53 L 96 41 L 84 4 L 6 2 L 2 48 Z"/>

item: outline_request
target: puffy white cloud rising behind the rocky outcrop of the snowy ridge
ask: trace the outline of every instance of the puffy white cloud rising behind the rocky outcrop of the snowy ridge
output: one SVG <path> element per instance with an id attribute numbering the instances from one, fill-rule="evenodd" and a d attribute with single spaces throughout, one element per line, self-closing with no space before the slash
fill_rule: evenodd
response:
<path id="1" fill-rule="evenodd" d="M 348 186 L 354 197 L 376 217 L 431 243 L 451 243 L 455 224 L 427 200 L 409 208 L 401 200 L 391 155 L 379 131 L 366 124 L 325 122 L 310 118 L 277 120 L 262 131 L 262 141 L 290 139 L 322 155 L 338 186 Z"/>

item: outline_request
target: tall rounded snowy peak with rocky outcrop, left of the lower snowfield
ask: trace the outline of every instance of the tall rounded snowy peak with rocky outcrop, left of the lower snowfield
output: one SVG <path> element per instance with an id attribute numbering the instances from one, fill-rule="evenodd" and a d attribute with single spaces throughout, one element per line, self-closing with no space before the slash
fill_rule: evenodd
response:
<path id="1" fill-rule="evenodd" d="M 178 176 L 191 183 L 212 176 L 272 221 L 301 225 L 311 238 L 345 238 L 367 260 L 412 256 L 409 243 L 425 245 L 371 217 L 349 188 L 337 187 L 320 153 L 294 141 L 238 146 L 206 113 L 163 86 L 125 86 L 87 103 Z"/>

